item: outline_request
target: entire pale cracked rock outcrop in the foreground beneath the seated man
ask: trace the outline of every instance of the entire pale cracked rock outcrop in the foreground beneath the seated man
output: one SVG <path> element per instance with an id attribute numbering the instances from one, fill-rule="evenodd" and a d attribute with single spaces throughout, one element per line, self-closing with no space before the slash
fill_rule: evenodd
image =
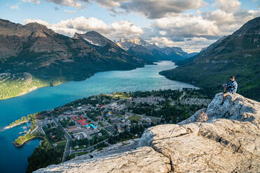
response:
<path id="1" fill-rule="evenodd" d="M 218 93 L 189 119 L 145 130 L 137 148 L 36 172 L 260 172 L 260 103 L 238 94 L 221 101 Z"/>

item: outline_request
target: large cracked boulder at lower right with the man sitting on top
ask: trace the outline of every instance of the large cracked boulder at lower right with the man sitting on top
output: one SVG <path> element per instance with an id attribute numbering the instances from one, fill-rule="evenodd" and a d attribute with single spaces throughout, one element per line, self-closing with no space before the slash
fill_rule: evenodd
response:
<path id="1" fill-rule="evenodd" d="M 260 172 L 260 103 L 238 94 L 221 102 L 218 93 L 208 109 L 178 125 L 145 130 L 140 146 L 164 154 L 173 172 Z"/>

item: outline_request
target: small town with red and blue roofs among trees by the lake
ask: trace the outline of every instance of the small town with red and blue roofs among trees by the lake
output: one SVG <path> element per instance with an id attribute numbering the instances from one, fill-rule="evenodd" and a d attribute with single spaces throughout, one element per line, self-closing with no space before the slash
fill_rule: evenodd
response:
<path id="1" fill-rule="evenodd" d="M 178 123 L 207 107 L 209 101 L 193 89 L 100 94 L 24 116 L 8 128 L 27 123 L 15 146 L 36 137 L 43 139 L 29 163 L 36 161 L 40 150 L 41 157 L 55 156 L 50 162 L 57 164 L 138 138 L 151 126 Z"/>

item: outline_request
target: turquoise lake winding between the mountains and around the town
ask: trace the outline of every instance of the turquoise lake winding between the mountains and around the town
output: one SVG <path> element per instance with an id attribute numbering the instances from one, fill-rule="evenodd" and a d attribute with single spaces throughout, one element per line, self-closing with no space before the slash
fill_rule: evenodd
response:
<path id="1" fill-rule="evenodd" d="M 134 70 L 101 72 L 81 82 L 44 87 L 23 96 L 0 100 L 0 172 L 26 172 L 27 157 L 40 141 L 31 140 L 21 148 L 15 148 L 12 142 L 18 137 L 18 133 L 23 131 L 22 126 L 3 130 L 15 119 L 99 93 L 195 88 L 191 84 L 168 80 L 159 75 L 161 70 L 175 67 L 175 63 L 171 61 L 161 61 L 157 65 L 147 65 Z"/>

